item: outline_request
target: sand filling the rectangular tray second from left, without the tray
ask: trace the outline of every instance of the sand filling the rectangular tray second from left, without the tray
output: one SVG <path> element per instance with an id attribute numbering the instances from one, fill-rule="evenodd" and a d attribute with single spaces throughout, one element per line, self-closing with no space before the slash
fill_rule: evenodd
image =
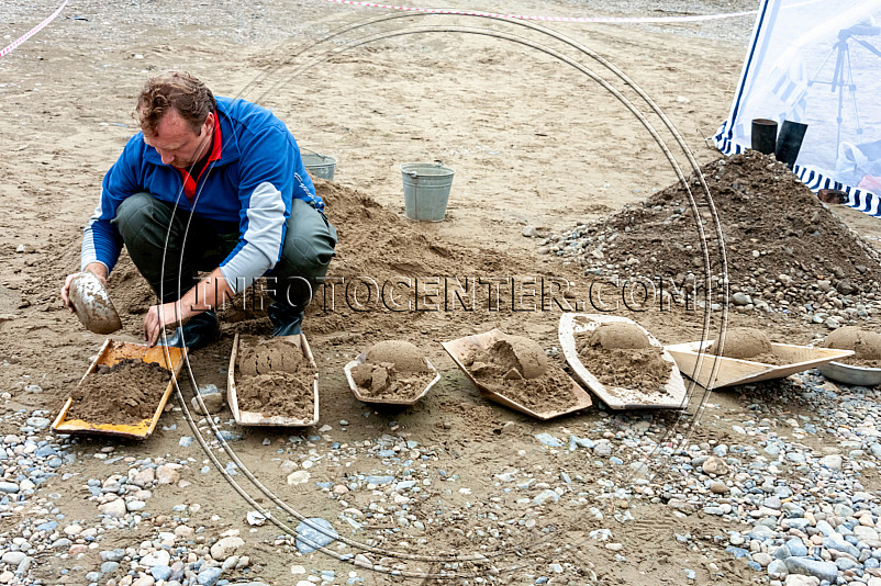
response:
<path id="1" fill-rule="evenodd" d="M 238 409 L 265 417 L 311 420 L 315 413 L 315 369 L 288 337 L 239 337 Z"/>

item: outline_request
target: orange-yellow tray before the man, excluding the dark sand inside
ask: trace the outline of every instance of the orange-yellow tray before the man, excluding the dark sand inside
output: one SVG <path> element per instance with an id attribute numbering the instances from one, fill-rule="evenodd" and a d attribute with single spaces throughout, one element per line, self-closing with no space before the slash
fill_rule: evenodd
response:
<path id="1" fill-rule="evenodd" d="M 82 379 L 80 379 L 77 384 L 82 383 L 82 380 L 94 372 L 94 369 L 97 369 L 99 364 L 112 367 L 126 358 L 140 359 L 144 362 L 157 362 L 166 370 L 171 371 L 171 380 L 159 397 L 153 417 L 149 419 L 142 419 L 141 422 L 136 425 L 96 424 L 83 421 L 82 419 L 67 419 L 67 412 L 70 410 L 70 406 L 74 404 L 74 398 L 67 397 L 67 402 L 64 407 L 62 407 L 62 413 L 58 414 L 58 417 L 56 417 L 55 421 L 52 424 L 52 429 L 58 433 L 103 433 L 134 439 L 148 438 L 156 428 L 156 424 L 159 421 L 159 416 L 163 414 L 168 397 L 171 396 L 171 391 L 175 390 L 175 383 L 178 374 L 180 374 L 180 369 L 183 367 L 183 357 L 186 353 L 186 350 L 182 348 L 170 348 L 167 346 L 154 346 L 150 348 L 145 343 L 114 342 L 112 338 L 108 338 L 98 351 L 98 357 L 92 361 L 86 374 L 82 375 Z"/>

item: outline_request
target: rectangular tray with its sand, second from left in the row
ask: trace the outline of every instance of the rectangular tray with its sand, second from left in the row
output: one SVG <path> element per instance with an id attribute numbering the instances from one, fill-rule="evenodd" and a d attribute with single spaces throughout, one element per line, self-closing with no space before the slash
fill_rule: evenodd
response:
<path id="1" fill-rule="evenodd" d="M 305 427 L 319 421 L 319 369 L 302 334 L 235 335 L 226 402 L 241 426 Z"/>

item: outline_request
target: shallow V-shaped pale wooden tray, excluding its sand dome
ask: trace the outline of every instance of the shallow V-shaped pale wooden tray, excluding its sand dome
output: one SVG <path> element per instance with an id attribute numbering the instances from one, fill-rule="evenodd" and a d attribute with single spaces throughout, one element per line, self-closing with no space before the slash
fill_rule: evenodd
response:
<path id="1" fill-rule="evenodd" d="M 847 358 L 854 353 L 854 350 L 771 343 L 773 352 L 787 361 L 787 364 L 777 367 L 763 362 L 710 354 L 705 350 L 711 343 L 713 340 L 667 346 L 667 351 L 673 357 L 682 374 L 710 390 L 782 379 L 833 360 Z"/>

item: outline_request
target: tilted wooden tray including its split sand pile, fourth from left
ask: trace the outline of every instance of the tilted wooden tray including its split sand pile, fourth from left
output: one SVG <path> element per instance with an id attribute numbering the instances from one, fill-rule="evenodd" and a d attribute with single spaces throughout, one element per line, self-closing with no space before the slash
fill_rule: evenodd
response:
<path id="1" fill-rule="evenodd" d="M 442 346 L 478 391 L 512 409 L 550 419 L 591 406 L 590 395 L 528 338 L 493 329 Z"/>

